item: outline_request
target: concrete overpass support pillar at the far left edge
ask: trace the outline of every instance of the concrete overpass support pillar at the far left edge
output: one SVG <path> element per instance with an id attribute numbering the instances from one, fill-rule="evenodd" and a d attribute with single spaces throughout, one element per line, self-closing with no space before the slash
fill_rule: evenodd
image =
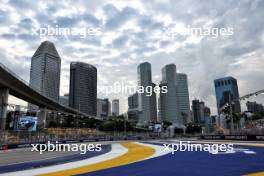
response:
<path id="1" fill-rule="evenodd" d="M 0 130 L 5 130 L 9 89 L 0 88 Z"/>

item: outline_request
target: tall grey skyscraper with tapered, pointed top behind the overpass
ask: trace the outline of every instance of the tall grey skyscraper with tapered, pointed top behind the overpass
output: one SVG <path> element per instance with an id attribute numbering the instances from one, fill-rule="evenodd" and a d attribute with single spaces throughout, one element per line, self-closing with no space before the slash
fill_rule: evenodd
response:
<path id="1" fill-rule="evenodd" d="M 30 81 L 32 88 L 59 102 L 61 58 L 53 43 L 44 41 L 31 58 Z M 30 110 L 36 106 L 29 105 Z"/>

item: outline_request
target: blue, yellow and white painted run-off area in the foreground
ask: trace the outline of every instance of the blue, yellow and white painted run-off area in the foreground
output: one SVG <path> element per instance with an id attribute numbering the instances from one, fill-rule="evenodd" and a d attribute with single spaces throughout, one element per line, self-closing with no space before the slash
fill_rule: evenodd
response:
<path id="1" fill-rule="evenodd" d="M 42 167 L 46 173 L 37 173 L 42 176 L 56 175 L 81 175 L 81 176 L 174 176 L 174 175 L 203 175 L 203 176 L 236 176 L 236 175 L 263 175 L 264 176 L 264 144 L 237 141 L 193 141 L 197 143 L 234 143 L 235 151 L 232 153 L 211 154 L 206 151 L 160 153 L 163 143 L 176 143 L 176 141 L 146 141 L 146 142 L 118 142 L 123 148 L 122 154 L 115 152 L 114 157 L 107 158 L 113 153 L 111 145 L 105 145 L 101 153 L 89 153 L 84 155 L 68 154 L 52 159 L 32 161 L 12 165 L 0 166 L 2 175 L 19 174 L 19 170 L 31 170 L 32 166 Z M 111 150 L 111 152 L 110 152 Z M 14 151 L 15 152 L 15 151 Z M 12 155 L 12 152 L 9 152 Z M 21 154 L 22 155 L 22 154 Z M 97 157 L 106 156 L 104 161 L 95 162 Z M 154 156 L 156 155 L 156 156 Z M 1 155 L 0 155 L 1 157 Z M 65 168 L 64 170 L 49 170 L 50 165 L 59 166 L 63 162 L 72 163 L 91 159 L 92 163 L 81 167 Z M 94 159 L 94 162 L 93 162 Z M 0 158 L 1 160 L 1 158 Z M 99 161 L 99 160 L 98 160 Z M 41 162 L 46 163 L 42 165 Z M 10 167 L 12 166 L 12 167 Z M 23 166 L 23 167 L 22 167 Z M 45 166 L 45 167 L 43 167 Z M 63 165 L 62 165 L 63 166 Z M 12 168 L 12 169 L 10 169 Z M 8 173 L 7 173 L 8 172 Z M 24 173 L 26 172 L 21 172 Z M 1 174 L 0 174 L 1 175 Z M 19 174 L 22 176 L 23 174 Z M 33 174 L 35 175 L 35 173 Z"/>

